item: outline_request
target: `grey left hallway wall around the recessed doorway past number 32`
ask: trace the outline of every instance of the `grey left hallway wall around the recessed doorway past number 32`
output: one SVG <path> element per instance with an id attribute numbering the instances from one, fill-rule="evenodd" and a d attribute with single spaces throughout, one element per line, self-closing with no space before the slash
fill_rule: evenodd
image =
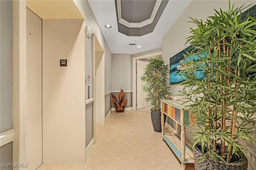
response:
<path id="1" fill-rule="evenodd" d="M 79 8 L 80 12 L 85 16 L 86 18 L 86 26 L 89 26 L 91 29 L 91 33 L 93 33 L 95 36 L 97 36 L 99 43 L 102 45 L 105 53 L 104 53 L 104 92 L 108 93 L 111 91 L 111 60 L 112 60 L 112 54 L 108 47 L 108 44 L 106 43 L 106 40 L 103 37 L 103 34 L 100 30 L 100 27 L 98 26 L 98 23 L 94 17 L 94 14 L 90 8 L 90 5 L 87 0 L 74 0 L 77 7 Z M 88 86 L 90 86 L 90 99 L 94 98 L 93 95 L 93 36 L 91 35 L 90 38 L 86 38 L 86 75 L 90 74 L 91 81 L 90 84 L 86 84 L 86 100 L 88 100 Z M 105 98 L 105 114 L 106 112 L 110 110 L 110 99 Z M 87 109 L 87 105 L 86 105 Z M 106 111 L 108 110 L 108 111 Z M 93 128 L 93 121 L 92 118 L 92 111 L 93 109 L 90 109 L 86 112 L 86 134 L 90 133 L 90 130 Z M 91 136 L 92 137 L 92 136 Z M 95 137 L 95 136 L 94 136 Z M 92 139 L 92 138 L 91 138 Z M 86 138 L 87 141 L 90 141 L 91 139 Z"/>

